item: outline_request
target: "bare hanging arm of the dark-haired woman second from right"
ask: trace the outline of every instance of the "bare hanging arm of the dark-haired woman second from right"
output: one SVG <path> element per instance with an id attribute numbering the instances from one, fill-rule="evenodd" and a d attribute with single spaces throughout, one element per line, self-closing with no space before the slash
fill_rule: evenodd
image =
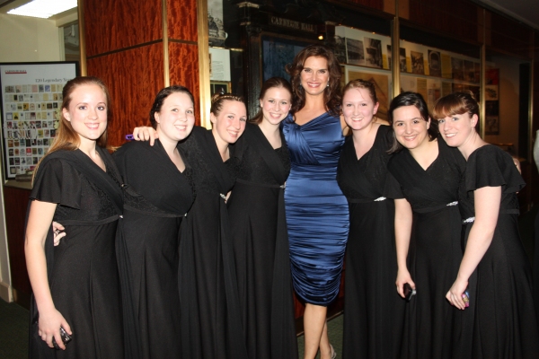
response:
<path id="1" fill-rule="evenodd" d="M 404 298 L 403 286 L 408 283 L 412 289 L 415 289 L 415 283 L 411 280 L 410 272 L 406 266 L 408 249 L 410 247 L 411 223 L 413 214 L 410 203 L 404 199 L 395 199 L 395 245 L 397 250 L 397 292 Z"/>

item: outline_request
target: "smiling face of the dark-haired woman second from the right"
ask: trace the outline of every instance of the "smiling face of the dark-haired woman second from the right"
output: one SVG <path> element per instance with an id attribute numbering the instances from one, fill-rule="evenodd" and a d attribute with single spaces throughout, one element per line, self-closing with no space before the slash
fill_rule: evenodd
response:
<path id="1" fill-rule="evenodd" d="M 393 110 L 395 138 L 409 150 L 417 149 L 429 142 L 430 118 L 421 118 L 415 106 L 402 106 Z"/>

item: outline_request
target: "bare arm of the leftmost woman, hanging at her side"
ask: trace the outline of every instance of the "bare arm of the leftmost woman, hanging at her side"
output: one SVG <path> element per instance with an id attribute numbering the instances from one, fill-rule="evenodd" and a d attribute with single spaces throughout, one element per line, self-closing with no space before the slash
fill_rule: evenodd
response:
<path id="1" fill-rule="evenodd" d="M 52 302 L 47 277 L 47 260 L 45 258 L 45 240 L 50 229 L 50 223 L 56 210 L 56 204 L 31 202 L 30 215 L 26 226 L 26 238 L 24 241 L 24 253 L 26 255 L 26 267 L 30 277 L 31 288 L 38 305 L 40 319 L 38 334 L 47 345 L 53 347 L 52 338 L 55 337 L 57 345 L 66 349 L 60 337 L 60 327 L 66 329 L 72 335 L 71 328 Z"/>

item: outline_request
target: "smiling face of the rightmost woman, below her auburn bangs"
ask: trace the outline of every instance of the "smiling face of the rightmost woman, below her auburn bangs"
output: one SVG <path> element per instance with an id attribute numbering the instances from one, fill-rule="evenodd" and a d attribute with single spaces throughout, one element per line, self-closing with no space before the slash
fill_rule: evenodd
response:
<path id="1" fill-rule="evenodd" d="M 468 112 L 440 118 L 438 119 L 440 134 L 446 141 L 446 144 L 452 147 L 461 147 L 472 138 L 478 119 L 475 114 L 470 117 Z"/>

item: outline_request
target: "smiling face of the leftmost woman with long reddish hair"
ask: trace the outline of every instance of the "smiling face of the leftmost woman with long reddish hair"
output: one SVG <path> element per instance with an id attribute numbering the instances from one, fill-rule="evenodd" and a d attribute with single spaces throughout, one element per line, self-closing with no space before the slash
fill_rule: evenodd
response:
<path id="1" fill-rule="evenodd" d="M 97 84 L 82 84 L 71 92 L 64 118 L 80 137 L 81 143 L 95 142 L 107 129 L 107 96 Z"/>

